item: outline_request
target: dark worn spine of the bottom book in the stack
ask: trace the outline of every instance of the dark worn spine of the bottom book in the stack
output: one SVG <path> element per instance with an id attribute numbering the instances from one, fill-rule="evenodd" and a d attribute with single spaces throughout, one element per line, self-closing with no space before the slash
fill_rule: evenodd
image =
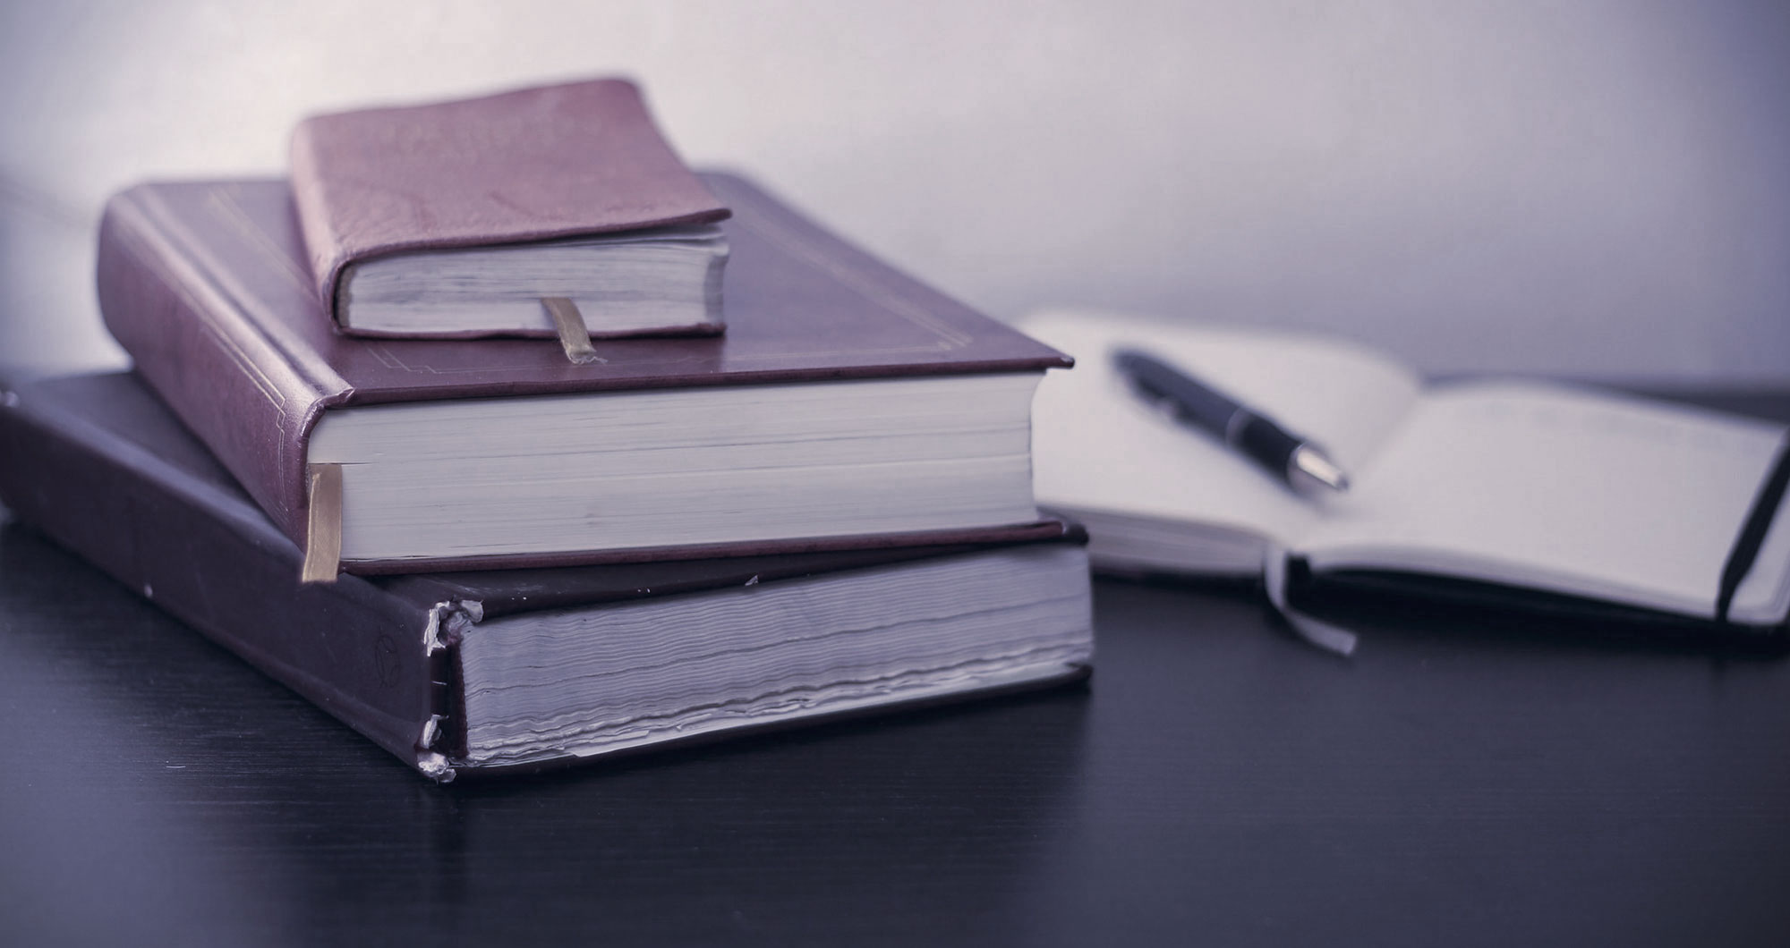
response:
<path id="1" fill-rule="evenodd" d="M 353 576 L 299 583 L 299 549 L 245 499 L 39 406 L 29 386 L 0 395 L 0 501 L 412 767 L 453 778 L 458 603 L 430 608 Z"/>

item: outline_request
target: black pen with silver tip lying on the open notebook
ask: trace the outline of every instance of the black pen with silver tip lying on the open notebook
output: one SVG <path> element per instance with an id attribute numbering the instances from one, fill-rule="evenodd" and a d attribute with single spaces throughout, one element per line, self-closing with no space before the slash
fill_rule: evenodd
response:
<path id="1" fill-rule="evenodd" d="M 1135 349 L 1121 349 L 1113 354 L 1113 363 L 1138 397 L 1185 426 L 1215 435 L 1289 487 L 1348 490 L 1348 476 L 1321 447 L 1280 427 L 1267 415 Z"/>

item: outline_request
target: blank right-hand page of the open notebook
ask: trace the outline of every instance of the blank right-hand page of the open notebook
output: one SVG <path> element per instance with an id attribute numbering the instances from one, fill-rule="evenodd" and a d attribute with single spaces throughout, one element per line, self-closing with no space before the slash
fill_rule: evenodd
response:
<path id="1" fill-rule="evenodd" d="M 1317 569 L 1459 574 L 1713 617 L 1781 438 L 1776 424 L 1566 386 L 1437 388 L 1296 546 Z M 1767 580 L 1790 558 L 1774 538 L 1754 563 Z M 1774 597 L 1756 585 L 1731 617 L 1776 621 Z"/>

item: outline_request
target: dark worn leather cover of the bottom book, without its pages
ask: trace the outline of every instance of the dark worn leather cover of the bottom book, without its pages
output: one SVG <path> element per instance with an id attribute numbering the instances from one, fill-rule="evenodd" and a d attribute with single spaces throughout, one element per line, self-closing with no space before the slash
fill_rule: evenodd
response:
<path id="1" fill-rule="evenodd" d="M 297 546 L 131 374 L 0 379 L 0 501 L 437 780 L 453 776 L 465 746 L 455 644 L 474 614 L 600 608 L 737 587 L 754 576 L 775 581 L 984 549 L 342 576 L 306 585 Z M 1056 533 L 1056 542 L 1085 542 L 1074 528 Z M 1085 669 L 1065 678 L 1079 676 Z"/>

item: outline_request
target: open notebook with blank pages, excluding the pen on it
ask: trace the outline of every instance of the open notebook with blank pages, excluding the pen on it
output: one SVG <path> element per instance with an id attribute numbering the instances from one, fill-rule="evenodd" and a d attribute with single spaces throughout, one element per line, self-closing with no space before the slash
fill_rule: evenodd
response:
<path id="1" fill-rule="evenodd" d="M 1317 578 L 1468 580 L 1751 628 L 1790 614 L 1790 515 L 1770 501 L 1783 426 L 1539 381 L 1425 385 L 1310 334 L 1095 313 L 1022 329 L 1076 358 L 1033 406 L 1035 494 L 1088 526 L 1095 565 L 1248 576 L 1285 556 Z M 1121 347 L 1325 445 L 1351 490 L 1296 494 L 1164 419 L 1113 370 Z"/>

